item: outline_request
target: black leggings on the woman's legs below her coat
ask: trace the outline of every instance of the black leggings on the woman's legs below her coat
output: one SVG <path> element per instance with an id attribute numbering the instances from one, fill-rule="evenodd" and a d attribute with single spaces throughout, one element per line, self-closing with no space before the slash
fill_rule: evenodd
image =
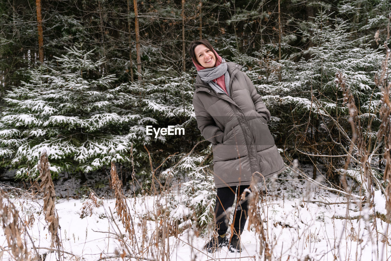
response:
<path id="1" fill-rule="evenodd" d="M 249 193 L 246 192 L 246 198 L 244 200 L 240 200 L 240 197 L 243 191 L 247 188 L 249 188 L 248 185 L 217 188 L 215 217 L 216 229 L 219 235 L 224 235 L 228 230 L 227 225 L 230 217 L 227 215 L 226 210 L 232 207 L 233 201 L 235 200 L 235 194 L 237 195 L 237 201 L 239 203 L 237 203 L 235 213 L 233 215 L 233 232 L 237 235 L 242 233 L 247 220 L 247 196 Z"/>

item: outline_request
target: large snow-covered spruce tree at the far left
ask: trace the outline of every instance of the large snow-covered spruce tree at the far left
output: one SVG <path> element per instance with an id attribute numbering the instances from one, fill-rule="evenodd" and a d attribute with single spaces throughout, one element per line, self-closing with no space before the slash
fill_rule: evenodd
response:
<path id="1" fill-rule="evenodd" d="M 2 166 L 18 169 L 18 178 L 36 178 L 46 150 L 52 173 L 88 173 L 111 161 L 129 160 L 137 118 L 123 104 L 129 95 L 111 89 L 114 75 L 100 76 L 102 59 L 75 46 L 57 63 L 31 69 L 29 81 L 4 98 L 0 120 Z M 120 97 L 120 99 L 118 99 Z"/>

